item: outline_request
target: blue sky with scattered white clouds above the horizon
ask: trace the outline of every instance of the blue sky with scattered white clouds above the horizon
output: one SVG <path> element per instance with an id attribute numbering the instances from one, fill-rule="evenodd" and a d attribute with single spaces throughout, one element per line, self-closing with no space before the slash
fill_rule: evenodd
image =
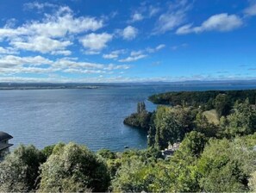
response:
<path id="1" fill-rule="evenodd" d="M 0 82 L 256 79 L 256 0 L 2 0 Z"/>

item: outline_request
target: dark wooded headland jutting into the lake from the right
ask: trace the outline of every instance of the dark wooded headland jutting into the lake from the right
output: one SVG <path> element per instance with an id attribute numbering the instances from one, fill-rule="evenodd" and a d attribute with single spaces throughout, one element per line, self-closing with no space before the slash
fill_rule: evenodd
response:
<path id="1" fill-rule="evenodd" d="M 218 95 L 226 95 L 230 103 L 237 100 L 249 99 L 249 103 L 255 103 L 256 90 L 208 90 L 208 91 L 179 91 L 166 92 L 149 96 L 149 100 L 156 104 L 175 105 L 207 105 L 212 103 Z"/>

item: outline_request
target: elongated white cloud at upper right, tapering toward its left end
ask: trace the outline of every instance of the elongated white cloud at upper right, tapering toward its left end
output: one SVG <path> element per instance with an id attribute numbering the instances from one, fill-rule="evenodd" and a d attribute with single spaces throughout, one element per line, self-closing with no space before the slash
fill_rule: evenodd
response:
<path id="1" fill-rule="evenodd" d="M 232 31 L 235 28 L 240 28 L 243 21 L 239 16 L 228 15 L 227 13 L 210 16 L 208 20 L 202 23 L 199 27 L 193 27 L 192 24 L 184 25 L 178 28 L 176 34 L 202 33 L 205 31 Z"/>

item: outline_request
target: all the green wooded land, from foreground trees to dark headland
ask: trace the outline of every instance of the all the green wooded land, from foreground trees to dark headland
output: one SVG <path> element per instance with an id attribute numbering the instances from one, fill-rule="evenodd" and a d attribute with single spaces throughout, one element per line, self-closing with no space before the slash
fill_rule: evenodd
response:
<path id="1" fill-rule="evenodd" d="M 147 130 L 147 149 L 19 146 L 0 164 L 0 191 L 256 191 L 255 99 L 256 90 L 149 96 L 154 112 L 140 102 L 124 120 Z"/>

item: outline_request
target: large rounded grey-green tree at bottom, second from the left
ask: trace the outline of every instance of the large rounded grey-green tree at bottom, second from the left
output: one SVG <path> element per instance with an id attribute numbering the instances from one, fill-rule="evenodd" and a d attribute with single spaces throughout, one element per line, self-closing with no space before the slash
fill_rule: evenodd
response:
<path id="1" fill-rule="evenodd" d="M 41 165 L 40 191 L 105 191 L 109 172 L 103 160 L 85 146 L 56 145 Z"/>

